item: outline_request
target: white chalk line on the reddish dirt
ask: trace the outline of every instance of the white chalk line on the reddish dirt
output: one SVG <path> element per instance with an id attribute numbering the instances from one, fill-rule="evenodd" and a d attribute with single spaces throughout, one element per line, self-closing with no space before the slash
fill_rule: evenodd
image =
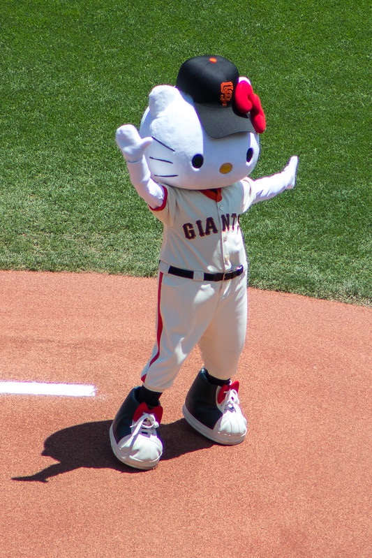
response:
<path id="1" fill-rule="evenodd" d="M 67 397 L 94 397 L 95 386 L 82 383 L 47 383 L 0 381 L 0 394 L 7 395 L 64 395 Z"/>

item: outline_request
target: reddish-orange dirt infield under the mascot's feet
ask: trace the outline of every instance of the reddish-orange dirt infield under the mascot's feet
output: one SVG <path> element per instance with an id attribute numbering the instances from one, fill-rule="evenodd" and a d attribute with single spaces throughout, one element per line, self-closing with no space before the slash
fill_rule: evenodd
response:
<path id="1" fill-rule="evenodd" d="M 182 418 L 195 350 L 142 472 L 108 430 L 154 342 L 156 280 L 0 272 L 0 380 L 97 388 L 0 395 L 1 557 L 371 556 L 371 309 L 248 296 L 246 441 L 215 445 Z"/>

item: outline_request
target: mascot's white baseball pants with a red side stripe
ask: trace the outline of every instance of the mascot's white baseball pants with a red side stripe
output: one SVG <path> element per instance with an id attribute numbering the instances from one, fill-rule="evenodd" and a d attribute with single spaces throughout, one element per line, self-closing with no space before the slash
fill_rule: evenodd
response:
<path id="1" fill-rule="evenodd" d="M 170 388 L 197 344 L 208 372 L 229 379 L 237 372 L 246 324 L 246 272 L 211 283 L 159 272 L 156 342 L 141 374 L 144 386 Z"/>

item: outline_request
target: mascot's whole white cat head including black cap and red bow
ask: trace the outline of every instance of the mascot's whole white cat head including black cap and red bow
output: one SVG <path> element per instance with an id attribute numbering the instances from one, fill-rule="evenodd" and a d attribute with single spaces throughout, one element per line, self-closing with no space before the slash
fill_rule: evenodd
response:
<path id="1" fill-rule="evenodd" d="M 253 170 L 265 130 L 260 99 L 235 64 L 200 56 L 182 64 L 176 87 L 149 94 L 140 135 L 151 177 L 184 189 L 228 186 Z"/>

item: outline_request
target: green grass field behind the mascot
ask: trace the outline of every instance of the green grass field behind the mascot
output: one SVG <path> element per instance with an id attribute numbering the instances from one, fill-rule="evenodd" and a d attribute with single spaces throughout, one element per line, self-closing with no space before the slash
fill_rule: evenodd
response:
<path id="1" fill-rule="evenodd" d="M 0 25 L 0 268 L 156 274 L 161 225 L 114 131 L 221 54 L 267 115 L 253 176 L 300 157 L 295 190 L 241 219 L 251 286 L 371 302 L 366 0 L 1 0 Z"/>

